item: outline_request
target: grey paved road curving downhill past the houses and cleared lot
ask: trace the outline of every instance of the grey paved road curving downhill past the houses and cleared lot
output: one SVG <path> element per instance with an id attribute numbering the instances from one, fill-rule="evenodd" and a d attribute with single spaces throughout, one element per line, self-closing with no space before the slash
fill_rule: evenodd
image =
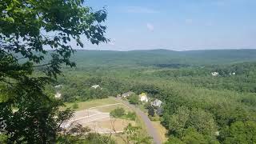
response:
<path id="1" fill-rule="evenodd" d="M 147 133 L 150 134 L 150 137 L 153 138 L 154 143 L 161 144 L 160 138 L 158 137 L 158 134 L 156 133 L 156 130 L 152 125 L 152 122 L 150 121 L 150 118 L 148 118 L 148 116 L 144 114 L 142 110 L 139 110 L 136 106 L 131 105 L 129 102 L 123 101 L 121 98 L 115 98 L 115 99 L 117 99 L 118 101 L 124 103 L 126 106 L 129 106 L 131 109 L 133 109 L 136 112 L 136 114 L 138 114 L 142 118 L 142 120 L 145 122 Z"/>

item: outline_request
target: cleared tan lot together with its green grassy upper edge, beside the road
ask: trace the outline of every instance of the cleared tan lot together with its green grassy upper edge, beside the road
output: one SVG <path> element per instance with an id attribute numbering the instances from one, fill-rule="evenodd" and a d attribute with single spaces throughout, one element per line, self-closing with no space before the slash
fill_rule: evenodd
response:
<path id="1" fill-rule="evenodd" d="M 67 103 L 70 107 L 74 103 Z M 74 117 L 63 122 L 63 128 L 70 128 L 76 124 L 90 127 L 92 132 L 100 134 L 119 133 L 129 124 L 135 125 L 134 121 L 110 118 L 110 111 L 117 107 L 122 107 L 126 111 L 132 111 L 128 106 L 117 102 L 114 98 L 97 99 L 88 102 L 78 102 L 78 109 L 74 112 Z"/>

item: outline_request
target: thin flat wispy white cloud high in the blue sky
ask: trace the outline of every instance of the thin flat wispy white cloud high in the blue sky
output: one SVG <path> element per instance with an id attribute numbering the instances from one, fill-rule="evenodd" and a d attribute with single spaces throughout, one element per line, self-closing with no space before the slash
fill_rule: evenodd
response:
<path id="1" fill-rule="evenodd" d="M 135 14 L 156 14 L 159 13 L 158 10 L 153 10 L 147 7 L 142 6 L 127 6 L 126 13 L 135 13 Z"/>

